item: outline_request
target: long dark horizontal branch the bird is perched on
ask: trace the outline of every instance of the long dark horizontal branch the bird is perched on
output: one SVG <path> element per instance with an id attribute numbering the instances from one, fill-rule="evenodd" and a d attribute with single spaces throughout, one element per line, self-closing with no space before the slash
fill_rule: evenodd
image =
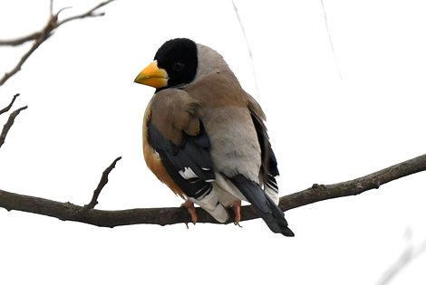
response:
<path id="1" fill-rule="evenodd" d="M 378 188 L 380 185 L 399 179 L 403 176 L 426 170 L 426 155 L 415 157 L 400 164 L 384 168 L 367 176 L 333 185 L 313 185 L 312 187 L 280 198 L 280 208 L 283 211 L 315 202 L 358 195 L 364 191 Z M 82 206 L 71 203 L 60 203 L 29 195 L 18 195 L 0 190 L 0 207 L 8 211 L 16 210 L 34 214 L 56 217 L 63 221 L 90 223 L 98 226 L 114 227 L 137 223 L 173 224 L 189 223 L 188 211 L 182 207 L 129 209 L 120 211 L 105 211 L 90 209 L 82 212 Z M 218 223 L 209 214 L 197 208 L 198 223 Z M 229 211 L 233 220 L 232 211 Z M 241 207 L 241 221 L 258 218 L 251 205 Z"/>

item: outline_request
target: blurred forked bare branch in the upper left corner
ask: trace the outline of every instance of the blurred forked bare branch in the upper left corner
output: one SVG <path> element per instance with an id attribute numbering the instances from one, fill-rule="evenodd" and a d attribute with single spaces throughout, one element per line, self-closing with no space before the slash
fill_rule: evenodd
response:
<path id="1" fill-rule="evenodd" d="M 0 86 L 5 84 L 5 81 L 8 81 L 12 76 L 14 76 L 18 71 L 21 70 L 22 66 L 24 65 L 24 62 L 26 62 L 26 60 L 28 60 L 28 58 L 31 56 L 31 54 L 33 54 L 33 52 L 35 52 L 35 50 L 42 43 L 44 43 L 59 26 L 61 26 L 62 24 L 71 22 L 73 20 L 77 20 L 77 19 L 84 19 L 84 18 L 87 18 L 87 17 L 102 16 L 102 15 L 104 15 L 104 13 L 95 13 L 96 10 L 98 10 L 99 8 L 101 8 L 104 5 L 110 4 L 112 1 L 114 1 L 114 0 L 108 0 L 108 1 L 102 2 L 101 4 L 94 6 L 91 10 L 89 10 L 85 13 L 73 15 L 73 16 L 65 18 L 61 21 L 58 21 L 58 15 L 63 11 L 63 9 L 59 10 L 59 12 L 57 12 L 56 14 L 53 14 L 53 11 L 52 11 L 53 0 L 52 0 L 51 5 L 50 5 L 51 13 L 50 13 L 49 20 L 47 21 L 47 24 L 44 26 L 44 28 L 40 32 L 32 33 L 32 34 L 26 35 L 26 36 L 18 38 L 18 39 L 0 40 L 0 45 L 10 45 L 10 46 L 16 46 L 16 45 L 19 45 L 19 44 L 22 44 L 22 43 L 34 41 L 31 48 L 27 52 L 24 53 L 24 55 L 21 57 L 21 59 L 15 65 L 15 67 L 11 71 L 5 72 L 4 76 L 2 78 L 0 78 Z"/>

